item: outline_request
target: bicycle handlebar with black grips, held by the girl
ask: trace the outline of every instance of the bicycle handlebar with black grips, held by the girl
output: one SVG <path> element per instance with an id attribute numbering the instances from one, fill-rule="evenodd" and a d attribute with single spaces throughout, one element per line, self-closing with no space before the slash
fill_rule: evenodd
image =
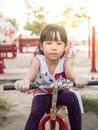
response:
<path id="1" fill-rule="evenodd" d="M 67 82 L 62 82 L 63 87 L 68 87 L 68 83 Z M 72 82 L 70 82 L 72 83 Z M 61 84 L 61 85 L 62 85 Z M 87 84 L 87 86 L 93 86 L 93 85 L 98 85 L 98 81 L 89 81 L 89 83 Z M 75 83 L 73 83 L 73 85 L 71 84 L 71 86 L 75 86 Z M 42 84 L 30 84 L 29 89 L 37 89 L 37 88 L 47 88 L 47 87 L 53 87 L 53 83 L 42 83 Z M 16 90 L 14 85 L 4 85 L 3 86 L 3 90 Z"/>

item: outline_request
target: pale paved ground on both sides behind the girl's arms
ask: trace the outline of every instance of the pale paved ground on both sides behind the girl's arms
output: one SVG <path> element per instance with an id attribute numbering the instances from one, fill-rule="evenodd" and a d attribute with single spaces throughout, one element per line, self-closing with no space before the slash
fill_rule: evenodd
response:
<path id="1" fill-rule="evenodd" d="M 23 78 L 29 70 L 32 53 L 18 53 L 15 59 L 5 60 L 4 73 L 0 74 L 0 80 L 17 80 Z M 95 68 L 98 71 L 98 60 L 95 61 Z M 78 52 L 73 60 L 73 69 L 77 74 L 97 76 L 97 72 L 91 72 L 92 60 L 88 58 L 85 51 Z M 98 77 L 98 76 L 97 76 Z"/>

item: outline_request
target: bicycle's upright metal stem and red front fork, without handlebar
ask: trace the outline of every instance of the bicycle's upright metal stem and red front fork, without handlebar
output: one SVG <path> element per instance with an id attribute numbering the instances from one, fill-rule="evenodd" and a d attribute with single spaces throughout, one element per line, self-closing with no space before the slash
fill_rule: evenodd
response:
<path id="1" fill-rule="evenodd" d="M 47 112 L 39 122 L 38 130 L 45 130 L 45 125 L 49 121 L 50 123 L 50 130 L 56 129 L 56 122 L 59 124 L 59 130 L 68 130 L 68 125 L 65 119 L 57 114 L 57 95 L 58 95 L 58 85 L 57 83 L 54 84 L 53 87 L 53 95 L 52 95 L 52 107 L 49 112 Z M 60 109 L 60 108 L 59 108 Z"/>

